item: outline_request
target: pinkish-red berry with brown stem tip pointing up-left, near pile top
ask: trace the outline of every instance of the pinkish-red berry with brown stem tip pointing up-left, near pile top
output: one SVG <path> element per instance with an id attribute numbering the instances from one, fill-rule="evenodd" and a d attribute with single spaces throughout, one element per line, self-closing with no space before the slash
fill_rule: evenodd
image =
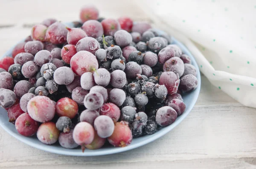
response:
<path id="1" fill-rule="evenodd" d="M 87 34 L 80 28 L 67 28 L 67 30 L 67 43 L 70 45 L 76 45 L 80 39 L 87 37 Z"/>

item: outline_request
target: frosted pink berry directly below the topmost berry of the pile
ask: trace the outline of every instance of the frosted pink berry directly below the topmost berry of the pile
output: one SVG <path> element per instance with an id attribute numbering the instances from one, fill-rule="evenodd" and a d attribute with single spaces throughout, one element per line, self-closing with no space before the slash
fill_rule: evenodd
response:
<path id="1" fill-rule="evenodd" d="M 81 27 L 88 37 L 102 37 L 103 27 L 102 24 L 97 20 L 87 20 Z"/>

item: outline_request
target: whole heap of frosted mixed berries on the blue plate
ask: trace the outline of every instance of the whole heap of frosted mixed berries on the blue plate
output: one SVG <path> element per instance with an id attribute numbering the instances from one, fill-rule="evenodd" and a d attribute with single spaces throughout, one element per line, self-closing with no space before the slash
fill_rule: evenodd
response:
<path id="1" fill-rule="evenodd" d="M 148 23 L 99 18 L 93 6 L 80 19 L 74 28 L 44 20 L 0 60 L 9 122 L 67 149 L 127 146 L 172 124 L 198 84 L 189 56 Z"/>

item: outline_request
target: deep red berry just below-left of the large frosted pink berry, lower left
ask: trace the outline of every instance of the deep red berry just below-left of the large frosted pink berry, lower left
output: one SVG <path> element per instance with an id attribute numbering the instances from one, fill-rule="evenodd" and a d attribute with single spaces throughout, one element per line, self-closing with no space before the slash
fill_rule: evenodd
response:
<path id="1" fill-rule="evenodd" d="M 24 136 L 34 135 L 38 130 L 38 126 L 38 122 L 33 120 L 29 116 L 29 113 L 23 113 L 17 118 L 15 122 L 15 128 L 17 132 Z"/>

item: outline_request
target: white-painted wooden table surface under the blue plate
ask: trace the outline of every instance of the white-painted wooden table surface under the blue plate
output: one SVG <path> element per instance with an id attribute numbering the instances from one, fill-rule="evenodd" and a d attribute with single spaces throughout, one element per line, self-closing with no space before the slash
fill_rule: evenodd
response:
<path id="1" fill-rule="evenodd" d="M 130 1 L 117 1 L 113 5 L 114 2 L 96 2 L 102 16 L 128 15 L 147 20 L 142 11 L 134 10 L 136 6 Z M 26 37 L 31 25 L 44 18 L 78 20 L 83 4 L 87 4 L 86 0 L 76 3 L 71 0 L 1 0 L 0 56 Z M 115 14 L 108 12 L 110 9 Z M 198 101 L 187 118 L 162 138 L 128 152 L 97 157 L 56 155 L 23 144 L 0 127 L 0 169 L 73 167 L 256 169 L 256 109 L 239 104 L 202 75 Z"/>

